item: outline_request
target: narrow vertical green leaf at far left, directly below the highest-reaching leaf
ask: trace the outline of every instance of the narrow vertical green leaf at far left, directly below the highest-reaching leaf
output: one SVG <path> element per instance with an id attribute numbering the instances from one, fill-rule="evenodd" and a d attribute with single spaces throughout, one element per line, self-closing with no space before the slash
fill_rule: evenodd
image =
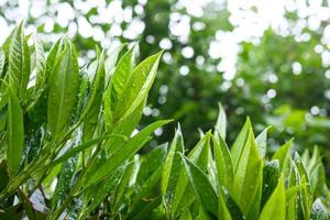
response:
<path id="1" fill-rule="evenodd" d="M 7 91 L 9 95 L 7 132 L 8 147 L 7 161 L 11 176 L 15 176 L 19 172 L 19 166 L 22 160 L 24 145 L 24 121 L 23 112 L 20 106 L 20 100 L 13 89 L 8 85 Z"/>

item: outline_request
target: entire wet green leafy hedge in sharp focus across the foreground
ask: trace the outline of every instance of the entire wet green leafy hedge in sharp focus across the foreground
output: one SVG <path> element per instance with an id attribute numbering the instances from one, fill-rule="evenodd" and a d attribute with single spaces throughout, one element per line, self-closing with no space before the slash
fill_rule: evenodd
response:
<path id="1" fill-rule="evenodd" d="M 136 130 L 162 53 L 135 66 L 135 52 L 97 48 L 79 69 L 66 37 L 45 57 L 13 30 L 0 51 L 0 219 L 329 219 L 318 148 L 292 157 L 288 141 L 268 161 L 267 130 L 254 138 L 249 119 L 229 148 L 221 106 L 188 154 L 179 127 L 139 154 L 170 120 Z"/>

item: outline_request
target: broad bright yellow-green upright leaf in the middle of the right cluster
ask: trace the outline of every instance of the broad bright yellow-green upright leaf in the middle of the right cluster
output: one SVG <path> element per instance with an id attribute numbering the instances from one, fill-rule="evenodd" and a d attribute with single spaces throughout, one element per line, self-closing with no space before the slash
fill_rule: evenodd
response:
<path id="1" fill-rule="evenodd" d="M 262 185 L 263 161 L 258 155 L 253 132 L 250 129 L 246 144 L 239 161 L 233 182 L 233 197 L 245 216 L 260 202 L 257 193 Z"/>

